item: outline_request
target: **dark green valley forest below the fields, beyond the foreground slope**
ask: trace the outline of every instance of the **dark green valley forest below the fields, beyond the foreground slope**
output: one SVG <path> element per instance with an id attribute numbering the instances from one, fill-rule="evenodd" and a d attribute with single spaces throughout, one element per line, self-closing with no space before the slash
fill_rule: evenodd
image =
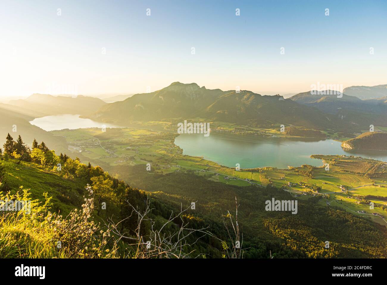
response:
<path id="1" fill-rule="evenodd" d="M 248 250 L 252 257 L 265 257 L 262 255 L 265 249 L 265 254 L 272 250 L 277 257 L 387 256 L 385 226 L 369 223 L 335 207 L 317 205 L 322 197 L 311 197 L 307 201 L 298 199 L 296 215 L 267 212 L 264 209 L 266 200 L 272 197 L 291 200 L 294 197 L 274 187 L 238 187 L 189 173 L 154 174 L 144 171 L 144 166 L 120 168 L 121 177 L 130 181 L 130 185 L 150 191 L 166 203 L 178 206 L 184 201 L 197 201 L 195 211 L 204 221 L 216 221 L 220 212 L 232 210 L 237 197 L 239 224 L 245 242 L 252 247 Z M 326 240 L 333 242 L 335 247 L 324 249 L 322 244 Z M 383 245 L 379 246 L 379 242 Z"/>

